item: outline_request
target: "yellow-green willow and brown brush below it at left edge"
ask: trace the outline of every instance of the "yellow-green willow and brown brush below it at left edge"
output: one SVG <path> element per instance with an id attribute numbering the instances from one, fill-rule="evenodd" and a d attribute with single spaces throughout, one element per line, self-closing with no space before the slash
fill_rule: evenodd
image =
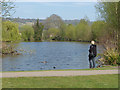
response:
<path id="1" fill-rule="evenodd" d="M 0 54 L 2 55 L 18 55 L 15 50 L 15 45 L 12 42 L 17 42 L 21 40 L 21 35 L 19 33 L 18 24 L 10 21 L 2 22 L 2 44 Z M 10 42 L 9 44 L 7 42 Z"/>

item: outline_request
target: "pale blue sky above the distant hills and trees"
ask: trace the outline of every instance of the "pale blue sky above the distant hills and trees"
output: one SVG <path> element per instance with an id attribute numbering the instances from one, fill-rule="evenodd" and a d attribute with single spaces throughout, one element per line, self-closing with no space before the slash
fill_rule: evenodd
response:
<path id="1" fill-rule="evenodd" d="M 16 2 L 16 13 L 13 17 L 45 19 L 52 14 L 62 19 L 82 19 L 87 16 L 95 21 L 96 2 Z"/>

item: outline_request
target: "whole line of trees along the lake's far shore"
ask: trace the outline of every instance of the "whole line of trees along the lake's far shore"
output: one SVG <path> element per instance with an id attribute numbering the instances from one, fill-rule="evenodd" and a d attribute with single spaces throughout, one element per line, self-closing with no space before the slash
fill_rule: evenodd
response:
<path id="1" fill-rule="evenodd" d="M 95 21 L 90 25 L 87 19 L 81 19 L 77 25 L 72 25 L 65 24 L 57 15 L 47 18 L 44 25 L 39 23 L 39 19 L 33 25 L 26 24 L 20 27 L 17 23 L 5 21 L 3 22 L 3 41 L 99 41 L 103 36 L 104 28 L 104 21 Z"/>

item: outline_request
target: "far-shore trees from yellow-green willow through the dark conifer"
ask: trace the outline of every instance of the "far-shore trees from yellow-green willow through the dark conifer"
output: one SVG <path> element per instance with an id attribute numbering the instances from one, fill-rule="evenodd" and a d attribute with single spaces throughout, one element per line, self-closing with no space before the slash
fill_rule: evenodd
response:
<path id="1" fill-rule="evenodd" d="M 44 26 L 39 20 L 31 25 L 19 25 L 11 21 L 2 22 L 2 41 L 41 41 Z"/>

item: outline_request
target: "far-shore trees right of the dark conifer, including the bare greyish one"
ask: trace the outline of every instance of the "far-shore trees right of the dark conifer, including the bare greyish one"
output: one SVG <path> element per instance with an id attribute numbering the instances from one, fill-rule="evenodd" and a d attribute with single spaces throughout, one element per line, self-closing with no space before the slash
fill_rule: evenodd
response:
<path id="1" fill-rule="evenodd" d="M 45 30 L 43 31 L 44 40 L 59 41 L 100 41 L 105 35 L 106 22 L 94 21 L 90 24 L 89 19 L 81 19 L 76 25 L 65 24 L 59 16 L 50 16 L 46 19 Z M 59 17 L 59 19 L 55 19 Z M 59 23 L 58 23 L 59 21 Z"/>

